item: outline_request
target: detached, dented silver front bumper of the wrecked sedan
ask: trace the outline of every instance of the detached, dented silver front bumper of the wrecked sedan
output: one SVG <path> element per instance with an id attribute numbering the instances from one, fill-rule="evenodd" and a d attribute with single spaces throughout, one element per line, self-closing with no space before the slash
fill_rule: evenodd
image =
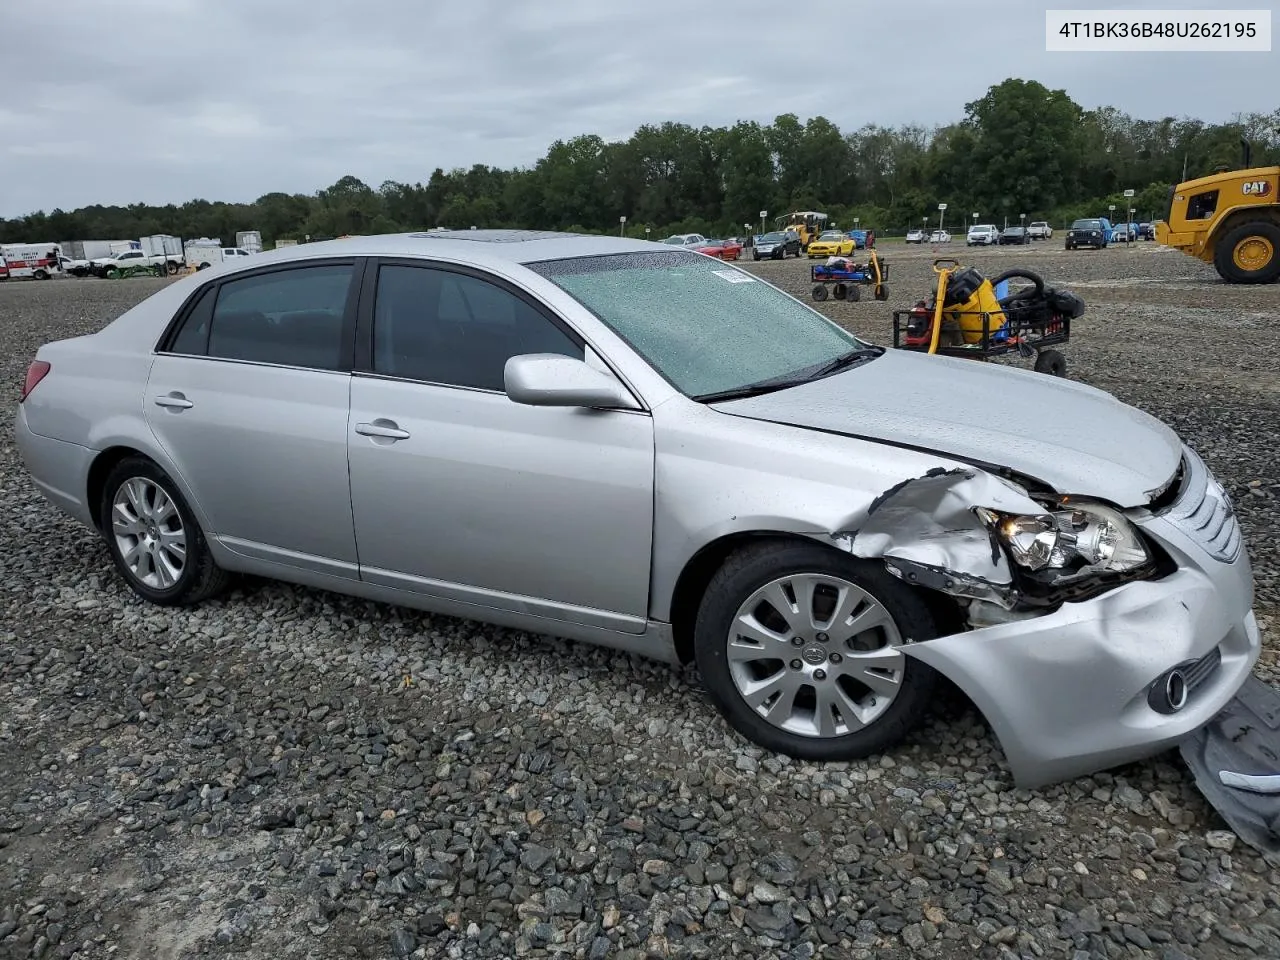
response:
<path id="1" fill-rule="evenodd" d="M 910 644 L 982 710 L 1019 786 L 1143 759 L 1208 723 L 1251 676 L 1261 640 L 1243 545 L 1224 563 L 1167 517 L 1142 529 L 1178 570 L 1034 620 Z M 1166 672 L 1213 652 L 1216 668 L 1176 713 L 1148 701 Z M 1212 662 L 1212 658 L 1208 660 Z"/>

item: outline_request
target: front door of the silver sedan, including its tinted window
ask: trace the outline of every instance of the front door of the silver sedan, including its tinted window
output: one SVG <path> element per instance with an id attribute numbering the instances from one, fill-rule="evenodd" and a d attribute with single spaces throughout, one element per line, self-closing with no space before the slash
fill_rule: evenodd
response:
<path id="1" fill-rule="evenodd" d="M 509 357 L 584 346 L 495 278 L 385 262 L 370 323 L 348 435 L 361 577 L 640 632 L 652 417 L 508 399 Z"/>

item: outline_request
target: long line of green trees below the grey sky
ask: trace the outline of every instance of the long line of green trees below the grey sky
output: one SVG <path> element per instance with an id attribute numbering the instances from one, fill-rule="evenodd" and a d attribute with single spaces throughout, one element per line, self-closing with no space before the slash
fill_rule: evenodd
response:
<path id="1" fill-rule="evenodd" d="M 248 204 L 87 206 L 0 219 L 0 241 L 116 239 L 155 233 L 220 237 L 256 229 L 282 238 L 396 233 L 471 225 L 618 232 L 654 239 L 669 233 L 759 229 L 759 211 L 823 210 L 833 223 L 896 233 L 928 220 L 946 224 L 1061 223 L 1106 215 L 1129 201 L 1139 219 L 1164 215 L 1169 188 L 1185 177 L 1240 163 L 1280 164 L 1280 109 L 1226 123 L 1166 116 L 1135 119 L 1115 108 L 1085 110 L 1062 90 L 1006 79 L 938 127 L 868 124 L 841 132 L 824 116 L 795 114 L 771 124 L 662 123 L 628 140 L 595 134 L 558 140 L 531 166 L 433 170 L 425 183 L 371 187 L 343 177 L 315 193 L 268 193 Z M 768 224 L 772 227 L 772 223 Z"/>

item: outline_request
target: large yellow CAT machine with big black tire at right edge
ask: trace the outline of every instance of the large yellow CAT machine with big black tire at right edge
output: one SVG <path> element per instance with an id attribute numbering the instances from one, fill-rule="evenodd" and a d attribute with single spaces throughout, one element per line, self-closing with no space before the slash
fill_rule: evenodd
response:
<path id="1" fill-rule="evenodd" d="M 1228 283 L 1280 278 L 1280 166 L 1249 166 L 1174 187 L 1169 220 L 1156 239 L 1212 264 Z"/>

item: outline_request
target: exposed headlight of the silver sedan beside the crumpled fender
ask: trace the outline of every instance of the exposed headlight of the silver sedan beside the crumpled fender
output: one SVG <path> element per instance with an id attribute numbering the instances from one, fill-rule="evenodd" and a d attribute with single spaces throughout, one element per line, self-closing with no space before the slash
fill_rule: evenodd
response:
<path id="1" fill-rule="evenodd" d="M 1064 498 L 1048 512 L 1016 516 L 979 509 L 979 516 L 1025 571 L 1050 581 L 1098 573 L 1123 573 L 1152 557 L 1137 527 L 1101 503 Z"/>

